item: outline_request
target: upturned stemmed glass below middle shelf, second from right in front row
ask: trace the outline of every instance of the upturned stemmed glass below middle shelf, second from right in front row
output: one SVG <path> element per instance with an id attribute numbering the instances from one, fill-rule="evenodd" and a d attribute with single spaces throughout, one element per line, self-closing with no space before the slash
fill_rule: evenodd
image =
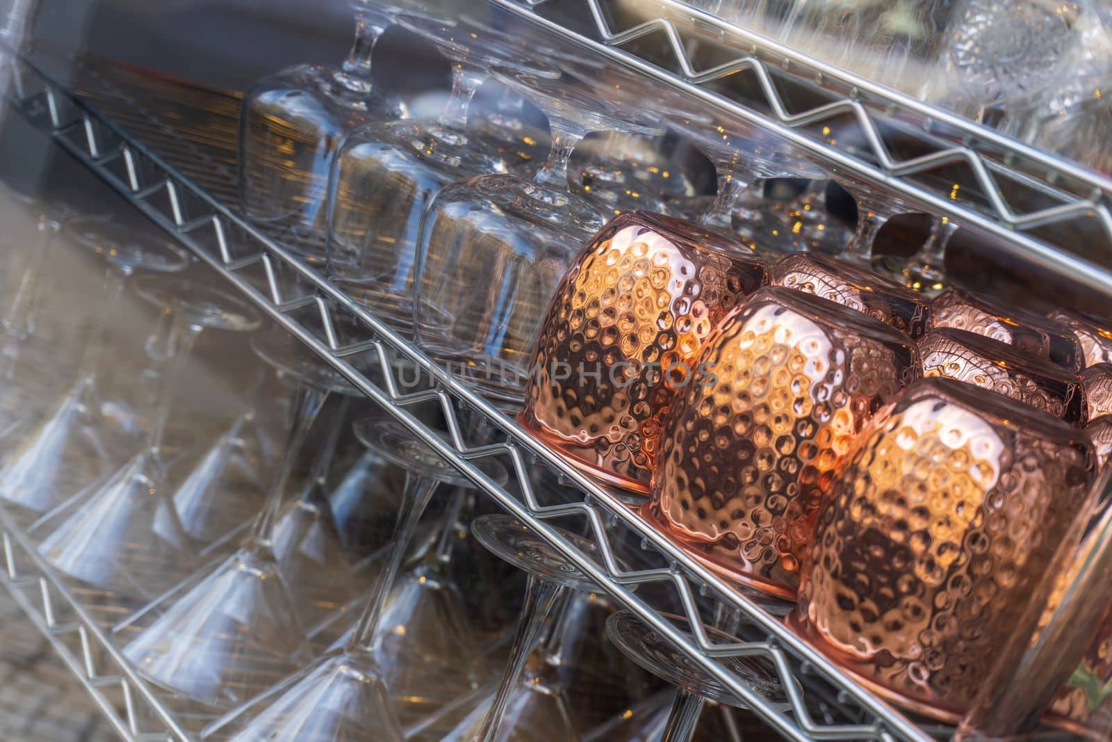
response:
<path id="1" fill-rule="evenodd" d="M 517 621 L 517 631 L 509 651 L 509 660 L 497 690 L 489 701 L 478 704 L 460 724 L 445 738 L 458 742 L 480 740 L 528 740 L 544 729 L 546 739 L 578 740 L 565 708 L 563 691 L 565 683 L 553 683 L 545 679 L 544 669 L 567 663 L 564 642 L 568 632 L 564 631 L 572 620 L 570 611 L 556 614 L 557 607 L 580 600 L 578 594 L 597 590 L 577 567 L 567 562 L 547 542 L 536 536 L 526 526 L 508 515 L 485 515 L 471 523 L 471 533 L 486 548 L 506 562 L 523 570 L 528 575 L 525 600 Z M 562 532 L 586 554 L 597 554 L 598 547 L 584 538 Z M 552 615 L 562 615 L 550 636 L 552 642 L 542 642 L 542 634 Z M 542 643 L 547 657 L 535 656 L 534 650 Z M 529 665 L 530 657 L 534 664 Z M 563 657 L 563 660 L 554 660 Z M 528 665 L 528 672 L 527 672 Z M 525 674 L 523 674 L 525 673 Z M 540 691 L 542 695 L 533 693 Z M 544 720 L 555 725 L 546 729 Z"/>

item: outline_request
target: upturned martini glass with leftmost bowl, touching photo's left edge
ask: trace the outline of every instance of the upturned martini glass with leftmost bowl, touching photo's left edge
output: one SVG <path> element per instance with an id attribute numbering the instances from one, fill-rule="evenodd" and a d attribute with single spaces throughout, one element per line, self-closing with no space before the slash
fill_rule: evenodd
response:
<path id="1" fill-rule="evenodd" d="M 51 231 L 57 228 L 50 227 Z M 66 233 L 107 266 L 77 380 L 42 422 L 21 437 L 0 467 L 0 497 L 36 513 L 66 503 L 106 474 L 105 466 L 113 458 L 113 446 L 105 435 L 97 377 L 108 346 L 107 323 L 117 314 L 128 279 L 136 270 L 168 274 L 189 264 L 189 256 L 168 240 L 103 219 L 73 219 Z M 37 249 L 46 249 L 46 245 Z"/>

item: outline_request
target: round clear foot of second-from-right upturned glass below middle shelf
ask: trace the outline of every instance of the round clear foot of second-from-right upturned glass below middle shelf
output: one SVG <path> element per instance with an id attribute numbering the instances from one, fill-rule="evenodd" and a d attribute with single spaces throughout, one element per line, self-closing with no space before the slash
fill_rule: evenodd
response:
<path id="1" fill-rule="evenodd" d="M 586 538 L 563 528 L 555 530 L 579 551 L 598 555 L 598 546 Z M 590 577 L 583 574 L 552 545 L 513 516 L 484 515 L 475 518 L 471 522 L 471 535 L 488 551 L 540 580 L 580 592 L 589 593 L 598 590 L 598 585 Z"/>

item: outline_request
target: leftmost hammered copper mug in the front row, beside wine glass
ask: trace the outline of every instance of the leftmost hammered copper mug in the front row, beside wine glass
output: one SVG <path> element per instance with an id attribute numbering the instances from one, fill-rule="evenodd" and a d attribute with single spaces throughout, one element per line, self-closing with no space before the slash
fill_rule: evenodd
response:
<path id="1" fill-rule="evenodd" d="M 648 211 L 614 218 L 548 307 L 522 424 L 605 482 L 648 492 L 661 424 L 695 355 L 766 281 L 739 243 Z"/>

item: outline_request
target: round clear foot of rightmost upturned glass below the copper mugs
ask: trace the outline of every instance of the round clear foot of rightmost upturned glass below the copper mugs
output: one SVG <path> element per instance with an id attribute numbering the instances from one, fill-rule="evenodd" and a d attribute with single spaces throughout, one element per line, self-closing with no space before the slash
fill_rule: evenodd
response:
<path id="1" fill-rule="evenodd" d="M 661 617 L 694 641 L 695 637 L 685 619 L 667 613 L 662 613 Z M 704 630 L 713 644 L 736 644 L 739 641 L 715 629 L 704 626 Z M 691 657 L 675 649 L 668 640 L 646 626 L 633 613 L 618 611 L 610 614 L 606 620 L 606 634 L 629 659 L 673 685 L 717 703 L 739 709 L 747 708 L 745 701 L 734 695 L 718 680 L 692 662 Z M 791 709 L 787 693 L 771 663 L 754 657 L 726 657 L 719 662 L 754 693 L 763 696 L 778 710 Z"/>

